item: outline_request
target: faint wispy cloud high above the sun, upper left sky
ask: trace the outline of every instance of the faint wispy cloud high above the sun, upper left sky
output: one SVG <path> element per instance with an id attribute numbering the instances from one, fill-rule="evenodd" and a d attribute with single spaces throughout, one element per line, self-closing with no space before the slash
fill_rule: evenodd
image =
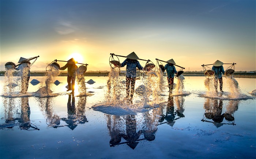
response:
<path id="1" fill-rule="evenodd" d="M 57 26 L 55 27 L 55 31 L 60 35 L 67 35 L 76 30 L 77 28 L 70 21 L 65 20 L 58 21 Z"/>

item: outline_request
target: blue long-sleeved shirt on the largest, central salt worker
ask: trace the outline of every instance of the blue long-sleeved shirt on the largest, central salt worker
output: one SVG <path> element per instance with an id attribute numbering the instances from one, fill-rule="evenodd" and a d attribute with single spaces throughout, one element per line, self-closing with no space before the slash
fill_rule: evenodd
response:
<path id="1" fill-rule="evenodd" d="M 125 65 L 127 65 L 126 76 L 130 78 L 136 77 L 136 67 L 140 70 L 143 69 L 138 60 L 125 59 L 124 62 L 121 63 L 121 67 L 124 67 Z"/>

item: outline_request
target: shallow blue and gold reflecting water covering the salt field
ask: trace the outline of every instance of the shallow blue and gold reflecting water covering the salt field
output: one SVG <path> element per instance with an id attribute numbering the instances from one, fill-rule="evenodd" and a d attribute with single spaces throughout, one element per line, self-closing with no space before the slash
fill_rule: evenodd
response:
<path id="1" fill-rule="evenodd" d="M 256 80 L 237 78 L 233 99 L 240 100 L 230 100 L 227 79 L 223 94 L 209 95 L 205 77 L 184 77 L 182 94 L 169 96 L 164 77 L 159 97 L 145 104 L 134 94 L 133 104 L 116 105 L 106 101 L 108 77 L 85 77 L 95 81 L 86 83 L 86 96 L 78 86 L 69 95 L 66 77 L 56 77 L 61 83 L 46 97 L 31 83 L 27 95 L 15 89 L 3 96 L 1 77 L 0 158 L 256 158 L 256 99 L 248 94 Z M 135 89 L 144 80 L 136 80 Z"/>

